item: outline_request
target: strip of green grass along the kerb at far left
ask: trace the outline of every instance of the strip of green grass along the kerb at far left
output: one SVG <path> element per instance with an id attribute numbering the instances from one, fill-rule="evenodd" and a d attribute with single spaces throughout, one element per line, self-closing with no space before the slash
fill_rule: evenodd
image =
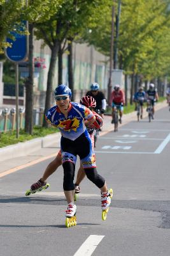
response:
<path id="1" fill-rule="evenodd" d="M 59 129 L 56 129 L 55 127 L 44 128 L 40 126 L 34 126 L 32 135 L 27 134 L 23 129 L 20 129 L 18 139 L 16 138 L 16 131 L 1 132 L 0 148 L 16 144 L 18 142 L 24 142 L 35 138 L 44 137 L 55 132 L 59 132 Z"/>

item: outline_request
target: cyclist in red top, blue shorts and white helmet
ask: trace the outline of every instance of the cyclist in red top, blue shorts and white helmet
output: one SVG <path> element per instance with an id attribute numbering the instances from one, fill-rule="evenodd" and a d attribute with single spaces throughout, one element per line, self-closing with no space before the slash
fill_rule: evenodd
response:
<path id="1" fill-rule="evenodd" d="M 120 89 L 120 85 L 116 84 L 114 86 L 114 90 L 111 93 L 111 100 L 112 100 L 112 117 L 115 106 L 117 107 L 120 115 L 119 122 L 122 124 L 122 115 L 124 111 L 124 103 L 125 103 L 125 97 L 124 92 Z M 114 120 L 112 119 L 111 124 L 114 123 Z"/>

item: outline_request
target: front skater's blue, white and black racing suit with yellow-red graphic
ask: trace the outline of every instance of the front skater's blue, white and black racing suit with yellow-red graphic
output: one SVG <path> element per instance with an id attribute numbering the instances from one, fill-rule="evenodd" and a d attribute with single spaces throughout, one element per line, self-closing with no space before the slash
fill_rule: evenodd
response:
<path id="1" fill-rule="evenodd" d="M 46 121 L 58 127 L 62 134 L 60 140 L 62 164 L 66 162 L 76 164 L 76 155 L 78 155 L 83 168 L 96 168 L 96 156 L 84 123 L 84 119 L 92 118 L 94 113 L 76 102 L 70 102 L 67 118 L 60 112 L 58 106 L 53 106 L 47 111 Z"/>

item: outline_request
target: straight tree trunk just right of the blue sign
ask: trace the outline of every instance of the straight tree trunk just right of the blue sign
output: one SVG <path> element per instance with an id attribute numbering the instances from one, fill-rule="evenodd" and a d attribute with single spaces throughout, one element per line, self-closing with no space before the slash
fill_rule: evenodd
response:
<path id="1" fill-rule="evenodd" d="M 34 60 L 33 60 L 33 37 L 34 25 L 29 24 L 29 77 L 26 81 L 25 93 L 25 132 L 32 134 L 33 130 L 33 84 L 34 84 Z"/>

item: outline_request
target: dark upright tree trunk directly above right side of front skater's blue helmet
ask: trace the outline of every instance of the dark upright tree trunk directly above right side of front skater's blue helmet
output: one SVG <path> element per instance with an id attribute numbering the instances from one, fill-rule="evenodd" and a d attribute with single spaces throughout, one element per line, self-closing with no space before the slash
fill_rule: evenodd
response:
<path id="1" fill-rule="evenodd" d="M 73 41 L 69 40 L 68 44 L 68 81 L 69 81 L 69 88 L 72 92 L 72 101 L 74 101 L 74 77 L 73 77 Z"/>

